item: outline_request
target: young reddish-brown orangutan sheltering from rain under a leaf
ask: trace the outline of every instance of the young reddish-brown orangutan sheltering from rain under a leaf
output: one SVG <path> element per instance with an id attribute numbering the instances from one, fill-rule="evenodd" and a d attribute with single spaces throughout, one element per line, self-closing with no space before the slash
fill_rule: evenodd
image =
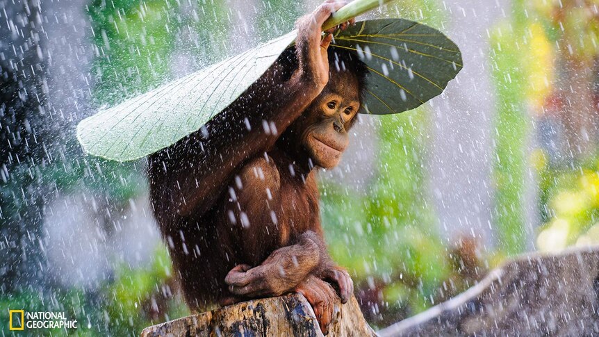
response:
<path id="1" fill-rule="evenodd" d="M 331 283 L 343 303 L 352 295 L 327 254 L 315 179 L 347 147 L 368 72 L 322 38 L 344 5 L 298 20 L 295 48 L 202 130 L 151 156 L 151 203 L 191 309 L 297 292 L 326 331 Z"/>

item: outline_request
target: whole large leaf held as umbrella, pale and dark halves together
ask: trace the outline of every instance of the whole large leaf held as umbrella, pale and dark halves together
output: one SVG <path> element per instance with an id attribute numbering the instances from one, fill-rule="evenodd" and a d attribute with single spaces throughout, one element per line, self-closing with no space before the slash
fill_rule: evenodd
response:
<path id="1" fill-rule="evenodd" d="M 77 126 L 88 154 L 131 161 L 199 130 L 229 106 L 293 43 L 297 31 L 227 58 L 122 104 Z M 370 69 L 365 110 L 400 113 L 440 94 L 461 69 L 457 46 L 439 31 L 404 19 L 359 22 L 334 46 L 355 51 Z"/>

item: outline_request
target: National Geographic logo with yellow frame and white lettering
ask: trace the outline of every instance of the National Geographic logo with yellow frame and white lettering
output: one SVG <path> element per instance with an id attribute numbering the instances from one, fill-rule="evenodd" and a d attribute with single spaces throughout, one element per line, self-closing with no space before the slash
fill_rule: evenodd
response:
<path id="1" fill-rule="evenodd" d="M 8 310 L 8 329 L 77 329 L 77 320 L 60 311 Z"/>

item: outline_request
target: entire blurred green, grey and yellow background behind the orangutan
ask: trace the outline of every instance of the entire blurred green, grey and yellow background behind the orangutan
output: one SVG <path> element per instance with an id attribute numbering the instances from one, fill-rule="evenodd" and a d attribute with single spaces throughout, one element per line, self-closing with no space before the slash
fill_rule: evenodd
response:
<path id="1" fill-rule="evenodd" d="M 0 0 L 0 322 L 65 311 L 136 336 L 188 314 L 149 209 L 145 161 L 84 156 L 99 106 L 277 37 L 318 1 Z M 384 327 L 505 258 L 599 241 L 599 1 L 397 0 L 464 68 L 425 106 L 363 115 L 320 173 L 331 254 Z M 6 320 L 5 320 L 6 318 Z"/>

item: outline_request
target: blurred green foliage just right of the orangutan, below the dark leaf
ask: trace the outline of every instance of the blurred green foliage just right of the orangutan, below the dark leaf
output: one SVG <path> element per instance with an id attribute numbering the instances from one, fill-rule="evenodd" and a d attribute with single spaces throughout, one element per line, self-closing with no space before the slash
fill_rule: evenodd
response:
<path id="1" fill-rule="evenodd" d="M 375 181 L 363 196 L 322 188 L 322 223 L 334 259 L 366 288 L 381 286 L 391 311 L 435 304 L 450 265 L 422 186 L 424 109 L 381 117 Z M 361 206 L 360 206 L 361 205 Z"/>

